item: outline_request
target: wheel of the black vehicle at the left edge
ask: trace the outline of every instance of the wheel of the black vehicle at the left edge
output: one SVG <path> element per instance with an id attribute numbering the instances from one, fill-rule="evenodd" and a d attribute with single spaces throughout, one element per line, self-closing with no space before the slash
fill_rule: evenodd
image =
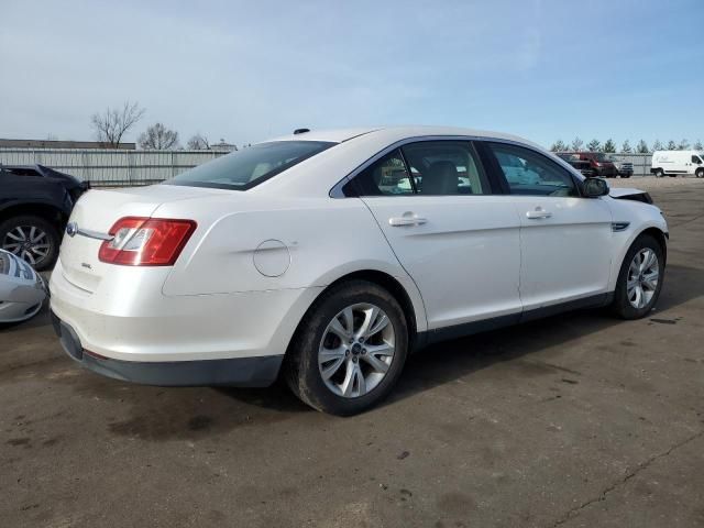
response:
<path id="1" fill-rule="evenodd" d="M 58 230 L 42 217 L 25 215 L 0 223 L 0 248 L 14 253 L 37 272 L 54 265 L 59 245 Z"/>

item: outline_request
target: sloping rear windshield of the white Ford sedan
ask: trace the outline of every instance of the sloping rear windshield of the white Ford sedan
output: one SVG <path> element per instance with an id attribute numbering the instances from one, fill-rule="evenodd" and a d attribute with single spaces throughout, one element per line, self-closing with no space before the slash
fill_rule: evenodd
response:
<path id="1" fill-rule="evenodd" d="M 334 144 L 322 141 L 258 143 L 186 170 L 164 183 L 246 190 Z"/>

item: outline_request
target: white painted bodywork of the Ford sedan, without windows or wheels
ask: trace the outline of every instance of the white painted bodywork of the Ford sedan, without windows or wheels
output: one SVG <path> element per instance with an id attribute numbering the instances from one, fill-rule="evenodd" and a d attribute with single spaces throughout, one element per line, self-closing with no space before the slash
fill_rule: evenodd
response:
<path id="1" fill-rule="evenodd" d="M 506 140 L 550 156 L 514 136 L 463 129 L 311 132 L 283 141 L 342 143 L 246 191 L 90 190 L 70 219 L 81 228 L 107 232 L 125 216 L 190 219 L 198 227 L 169 267 L 106 264 L 98 260 L 100 241 L 66 237 L 51 280 L 52 309 L 87 350 L 107 358 L 276 355 L 318 295 L 350 273 L 394 277 L 425 331 L 613 292 L 632 240 L 650 227 L 667 232 L 656 207 L 610 197 L 330 197 L 389 145 L 424 136 Z M 537 208 L 552 216 L 529 219 Z M 427 222 L 389 224 L 406 212 Z M 612 233 L 612 221 L 630 223 Z M 267 251 L 283 253 L 257 261 L 257 249 L 271 241 L 285 248 Z"/>

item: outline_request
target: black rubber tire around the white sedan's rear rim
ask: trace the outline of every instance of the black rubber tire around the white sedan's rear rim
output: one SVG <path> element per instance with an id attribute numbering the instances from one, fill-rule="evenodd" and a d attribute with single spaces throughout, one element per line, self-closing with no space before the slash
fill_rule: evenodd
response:
<path id="1" fill-rule="evenodd" d="M 340 311 L 350 305 L 371 302 L 391 319 L 395 332 L 395 352 L 392 365 L 382 382 L 370 393 L 356 398 L 333 394 L 324 384 L 318 366 L 318 348 L 326 328 Z M 384 399 L 396 384 L 408 354 L 408 324 L 396 299 L 374 283 L 354 280 L 323 294 L 301 322 L 295 349 L 298 395 L 312 407 L 339 416 L 361 413 Z"/>

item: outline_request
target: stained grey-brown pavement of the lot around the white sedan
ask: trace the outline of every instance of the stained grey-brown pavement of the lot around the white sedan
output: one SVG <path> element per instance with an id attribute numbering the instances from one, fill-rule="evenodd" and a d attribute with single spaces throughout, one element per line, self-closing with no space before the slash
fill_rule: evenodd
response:
<path id="1" fill-rule="evenodd" d="M 0 525 L 704 526 L 704 182 L 652 195 L 672 224 L 652 317 L 433 346 L 354 418 L 102 378 L 46 314 L 0 329 Z"/>

